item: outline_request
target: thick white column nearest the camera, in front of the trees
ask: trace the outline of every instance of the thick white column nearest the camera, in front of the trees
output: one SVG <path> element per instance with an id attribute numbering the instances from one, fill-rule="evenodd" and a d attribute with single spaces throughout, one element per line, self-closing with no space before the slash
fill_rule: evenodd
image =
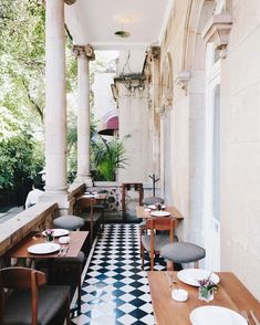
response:
<path id="1" fill-rule="evenodd" d="M 66 193 L 64 0 L 45 7 L 45 191 Z"/>

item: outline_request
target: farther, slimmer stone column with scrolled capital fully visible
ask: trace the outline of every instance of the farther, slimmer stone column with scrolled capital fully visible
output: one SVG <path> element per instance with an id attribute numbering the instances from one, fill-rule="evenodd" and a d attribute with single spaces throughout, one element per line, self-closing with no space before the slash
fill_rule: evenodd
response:
<path id="1" fill-rule="evenodd" d="M 95 59 L 91 45 L 73 49 L 77 57 L 77 175 L 76 182 L 92 186 L 90 172 L 90 61 Z"/>

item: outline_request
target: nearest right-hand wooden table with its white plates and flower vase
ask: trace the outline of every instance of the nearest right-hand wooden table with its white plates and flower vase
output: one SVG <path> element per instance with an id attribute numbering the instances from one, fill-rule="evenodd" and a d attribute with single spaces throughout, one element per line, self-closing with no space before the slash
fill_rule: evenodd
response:
<path id="1" fill-rule="evenodd" d="M 201 281 L 215 289 L 201 296 Z M 260 304 L 231 272 L 200 269 L 148 272 L 152 304 L 157 325 L 259 325 Z"/>

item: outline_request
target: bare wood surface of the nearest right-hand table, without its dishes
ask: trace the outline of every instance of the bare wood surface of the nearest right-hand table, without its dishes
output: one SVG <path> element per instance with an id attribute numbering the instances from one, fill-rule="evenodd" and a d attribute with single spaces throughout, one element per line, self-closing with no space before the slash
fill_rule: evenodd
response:
<path id="1" fill-rule="evenodd" d="M 252 310 L 260 319 L 260 303 L 235 274 L 230 272 L 217 273 L 220 277 L 218 292 L 215 294 L 214 301 L 205 303 L 198 300 L 197 287 L 180 282 L 177 279 L 177 272 L 174 273 L 178 289 L 185 289 L 189 293 L 187 302 L 179 303 L 171 298 L 166 272 L 148 272 L 152 304 L 157 325 L 190 325 L 190 312 L 196 307 L 209 305 L 223 306 L 236 312 L 247 311 L 248 314 Z"/>

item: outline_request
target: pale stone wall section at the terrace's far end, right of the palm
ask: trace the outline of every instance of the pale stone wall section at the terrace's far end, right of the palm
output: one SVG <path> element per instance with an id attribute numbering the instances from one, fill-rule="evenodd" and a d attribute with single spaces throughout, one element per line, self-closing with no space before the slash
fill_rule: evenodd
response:
<path id="1" fill-rule="evenodd" d="M 127 88 L 124 82 L 118 87 L 119 139 L 124 141 L 126 164 L 118 169 L 118 182 L 146 182 L 152 170 L 152 137 L 149 132 L 149 107 L 147 85 L 139 90 L 138 81 Z M 135 87 L 136 86 L 136 87 Z"/>

